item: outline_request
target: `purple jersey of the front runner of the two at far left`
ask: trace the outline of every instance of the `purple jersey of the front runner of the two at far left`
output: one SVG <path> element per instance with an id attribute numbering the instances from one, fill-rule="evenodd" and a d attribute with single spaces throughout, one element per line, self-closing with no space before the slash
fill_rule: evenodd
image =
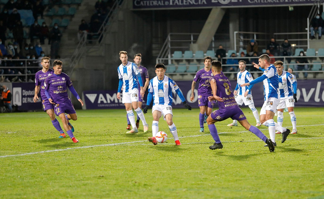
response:
<path id="1" fill-rule="evenodd" d="M 70 98 L 67 95 L 67 88 L 72 87 L 72 81 L 70 77 L 65 73 L 60 75 L 51 75 L 45 79 L 44 87 L 49 90 L 49 94 L 54 103 L 64 103 L 69 101 Z"/>

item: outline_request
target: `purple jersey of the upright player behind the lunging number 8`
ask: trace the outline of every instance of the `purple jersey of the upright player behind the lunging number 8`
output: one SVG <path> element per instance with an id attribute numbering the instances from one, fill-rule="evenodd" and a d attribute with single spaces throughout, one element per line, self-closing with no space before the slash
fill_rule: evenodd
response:
<path id="1" fill-rule="evenodd" d="M 199 87 L 198 87 L 198 95 L 202 96 L 211 96 L 212 95 L 212 88 L 210 87 L 210 78 L 213 77 L 212 70 L 205 71 L 205 69 L 199 70 L 195 77 L 193 78 L 193 81 L 198 82 L 199 81 Z"/>

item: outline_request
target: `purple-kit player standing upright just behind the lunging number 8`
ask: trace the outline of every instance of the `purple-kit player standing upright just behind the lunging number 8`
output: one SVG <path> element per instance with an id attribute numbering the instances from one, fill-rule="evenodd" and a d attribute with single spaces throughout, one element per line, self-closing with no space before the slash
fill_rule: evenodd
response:
<path id="1" fill-rule="evenodd" d="M 212 95 L 212 89 L 210 87 L 209 79 L 213 77 L 213 73 L 210 69 L 210 65 L 212 62 L 212 58 L 210 56 L 207 56 L 203 60 L 205 67 L 201 70 L 199 70 L 195 77 L 193 78 L 192 84 L 191 84 L 191 96 L 190 101 L 193 101 L 194 99 L 194 90 L 196 83 L 199 81 L 198 86 L 198 106 L 200 109 L 199 113 L 199 124 L 200 124 L 200 131 L 204 132 L 203 123 L 205 120 L 205 113 L 206 116 L 210 115 L 210 113 L 213 111 L 214 101 L 209 101 L 208 96 Z"/>

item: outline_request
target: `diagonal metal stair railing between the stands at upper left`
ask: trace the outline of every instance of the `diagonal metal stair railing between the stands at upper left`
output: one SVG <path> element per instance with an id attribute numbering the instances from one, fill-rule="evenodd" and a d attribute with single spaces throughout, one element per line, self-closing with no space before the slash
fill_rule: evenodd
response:
<path id="1" fill-rule="evenodd" d="M 111 6 L 111 9 L 109 10 L 107 17 L 102 22 L 102 25 L 100 26 L 98 32 L 96 33 L 88 33 L 87 35 L 91 35 L 92 37 L 95 36 L 96 39 L 88 40 L 87 35 L 84 34 L 78 45 L 76 46 L 70 61 L 70 68 L 69 68 L 69 74 L 73 73 L 73 70 L 75 69 L 76 65 L 79 63 L 81 57 L 83 54 L 90 50 L 91 48 L 100 48 L 104 42 L 101 42 L 105 39 L 108 31 L 110 30 L 108 27 L 112 23 L 113 20 L 116 20 L 117 18 L 117 8 L 121 5 L 122 0 L 117 0 Z M 92 45 L 89 45 L 89 42 L 91 42 Z"/>

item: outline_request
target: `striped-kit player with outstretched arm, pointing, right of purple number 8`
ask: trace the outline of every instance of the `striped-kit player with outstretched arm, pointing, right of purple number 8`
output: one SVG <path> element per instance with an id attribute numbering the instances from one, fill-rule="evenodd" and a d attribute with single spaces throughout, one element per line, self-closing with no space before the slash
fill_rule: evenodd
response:
<path id="1" fill-rule="evenodd" d="M 264 103 L 260 111 L 260 122 L 269 127 L 270 139 L 274 146 L 277 146 L 275 142 L 275 131 L 283 132 L 283 139 L 281 143 L 287 139 L 290 133 L 289 129 L 286 129 L 273 121 L 273 116 L 277 110 L 279 104 L 279 77 L 274 65 L 270 65 L 270 57 L 267 54 L 262 54 L 259 57 L 259 64 L 254 63 L 254 67 L 264 69 L 262 76 L 256 78 L 255 80 L 241 84 L 241 87 L 253 85 L 263 81 L 264 88 Z M 267 146 L 267 145 L 266 145 Z"/>

